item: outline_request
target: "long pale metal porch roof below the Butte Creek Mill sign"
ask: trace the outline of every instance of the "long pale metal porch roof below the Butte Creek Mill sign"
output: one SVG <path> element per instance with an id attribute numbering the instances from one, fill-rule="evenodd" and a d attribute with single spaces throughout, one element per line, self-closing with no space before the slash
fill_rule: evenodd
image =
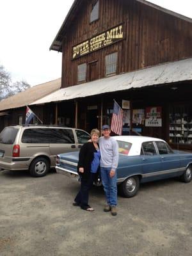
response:
<path id="1" fill-rule="evenodd" d="M 180 81 L 192 81 L 192 58 L 61 88 L 42 99 L 32 102 L 31 105 L 78 99 L 103 93 L 120 92 L 132 88 L 177 83 Z"/>

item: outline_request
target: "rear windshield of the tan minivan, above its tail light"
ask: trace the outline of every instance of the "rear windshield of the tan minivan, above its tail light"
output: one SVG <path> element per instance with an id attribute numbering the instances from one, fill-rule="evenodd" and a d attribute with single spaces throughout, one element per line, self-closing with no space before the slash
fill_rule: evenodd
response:
<path id="1" fill-rule="evenodd" d="M 13 144 L 17 136 L 19 129 L 14 127 L 6 127 L 0 133 L 0 143 L 2 144 Z"/>

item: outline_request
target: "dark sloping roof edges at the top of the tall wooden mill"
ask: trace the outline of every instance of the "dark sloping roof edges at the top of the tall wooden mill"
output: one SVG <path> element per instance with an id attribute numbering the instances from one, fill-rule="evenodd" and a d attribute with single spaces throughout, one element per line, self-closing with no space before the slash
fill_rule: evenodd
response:
<path id="1" fill-rule="evenodd" d="M 72 4 L 63 24 L 61 25 L 61 28 L 60 30 L 58 31 L 56 37 L 54 38 L 52 44 L 51 44 L 51 47 L 50 47 L 50 50 L 53 50 L 53 51 L 58 51 L 58 52 L 61 52 L 62 51 L 62 41 L 63 41 L 63 38 L 64 38 L 64 35 L 65 35 L 65 31 L 68 27 L 68 24 L 70 24 L 71 22 L 71 19 L 73 18 L 73 16 L 75 15 L 76 11 L 78 10 L 78 6 L 81 6 L 81 3 L 83 2 L 84 0 L 74 0 L 74 3 Z M 163 8 L 161 6 L 158 6 L 157 4 L 153 4 L 153 3 L 150 3 L 148 1 L 145 1 L 145 0 L 135 0 L 135 1 L 138 1 L 142 4 L 146 4 L 154 9 L 157 9 L 161 12 L 164 12 L 164 13 L 167 13 L 169 15 L 172 15 L 174 17 L 177 17 L 179 19 L 182 19 L 182 20 L 186 20 L 188 22 L 191 22 L 192 23 L 192 19 L 184 16 L 184 15 L 181 15 L 179 13 L 176 13 L 176 12 L 172 12 L 166 8 Z M 182 4 L 182 3 L 181 3 Z"/>

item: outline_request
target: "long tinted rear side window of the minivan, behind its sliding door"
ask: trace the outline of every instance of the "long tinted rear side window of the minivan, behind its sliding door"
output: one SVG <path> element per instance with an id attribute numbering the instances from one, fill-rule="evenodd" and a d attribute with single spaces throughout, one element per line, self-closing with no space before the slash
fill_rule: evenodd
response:
<path id="1" fill-rule="evenodd" d="M 49 143 L 50 129 L 26 129 L 22 134 L 22 143 Z"/>

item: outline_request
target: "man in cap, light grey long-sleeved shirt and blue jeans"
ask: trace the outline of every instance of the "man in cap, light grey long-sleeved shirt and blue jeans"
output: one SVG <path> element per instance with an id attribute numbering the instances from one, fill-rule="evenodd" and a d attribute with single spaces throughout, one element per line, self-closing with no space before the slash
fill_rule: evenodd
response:
<path id="1" fill-rule="evenodd" d="M 118 143 L 110 136 L 110 132 L 109 125 L 102 126 L 103 136 L 99 139 L 100 174 L 107 200 L 104 211 L 111 211 L 111 214 L 115 216 L 117 214 L 116 168 L 118 165 Z"/>

